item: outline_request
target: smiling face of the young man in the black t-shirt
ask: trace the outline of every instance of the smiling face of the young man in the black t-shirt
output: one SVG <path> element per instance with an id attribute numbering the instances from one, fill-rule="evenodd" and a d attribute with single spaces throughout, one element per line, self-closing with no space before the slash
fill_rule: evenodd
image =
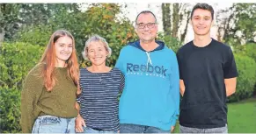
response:
<path id="1" fill-rule="evenodd" d="M 194 34 L 197 36 L 209 36 L 210 28 L 213 24 L 211 12 L 207 10 L 197 9 L 191 18 Z"/>

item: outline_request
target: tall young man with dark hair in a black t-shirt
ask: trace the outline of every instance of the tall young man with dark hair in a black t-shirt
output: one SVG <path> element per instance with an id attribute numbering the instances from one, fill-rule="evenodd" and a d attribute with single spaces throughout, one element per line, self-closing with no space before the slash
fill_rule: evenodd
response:
<path id="1" fill-rule="evenodd" d="M 210 38 L 214 10 L 196 4 L 191 13 L 194 40 L 177 53 L 181 133 L 227 133 L 226 98 L 236 91 L 238 71 L 230 46 Z"/>

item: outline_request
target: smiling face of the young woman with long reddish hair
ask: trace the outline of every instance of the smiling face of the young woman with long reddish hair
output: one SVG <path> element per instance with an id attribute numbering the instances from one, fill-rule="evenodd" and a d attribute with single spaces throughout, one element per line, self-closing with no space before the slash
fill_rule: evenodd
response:
<path id="1" fill-rule="evenodd" d="M 68 36 L 60 37 L 55 42 L 55 55 L 57 64 L 63 65 L 66 60 L 69 60 L 73 51 L 73 40 Z"/>

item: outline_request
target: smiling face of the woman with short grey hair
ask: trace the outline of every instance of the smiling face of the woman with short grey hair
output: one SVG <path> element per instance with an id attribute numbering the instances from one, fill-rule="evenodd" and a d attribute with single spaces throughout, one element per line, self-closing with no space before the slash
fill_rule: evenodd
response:
<path id="1" fill-rule="evenodd" d="M 91 60 L 92 66 L 106 65 L 108 52 L 106 46 L 101 41 L 92 41 L 88 46 L 88 59 Z"/>

